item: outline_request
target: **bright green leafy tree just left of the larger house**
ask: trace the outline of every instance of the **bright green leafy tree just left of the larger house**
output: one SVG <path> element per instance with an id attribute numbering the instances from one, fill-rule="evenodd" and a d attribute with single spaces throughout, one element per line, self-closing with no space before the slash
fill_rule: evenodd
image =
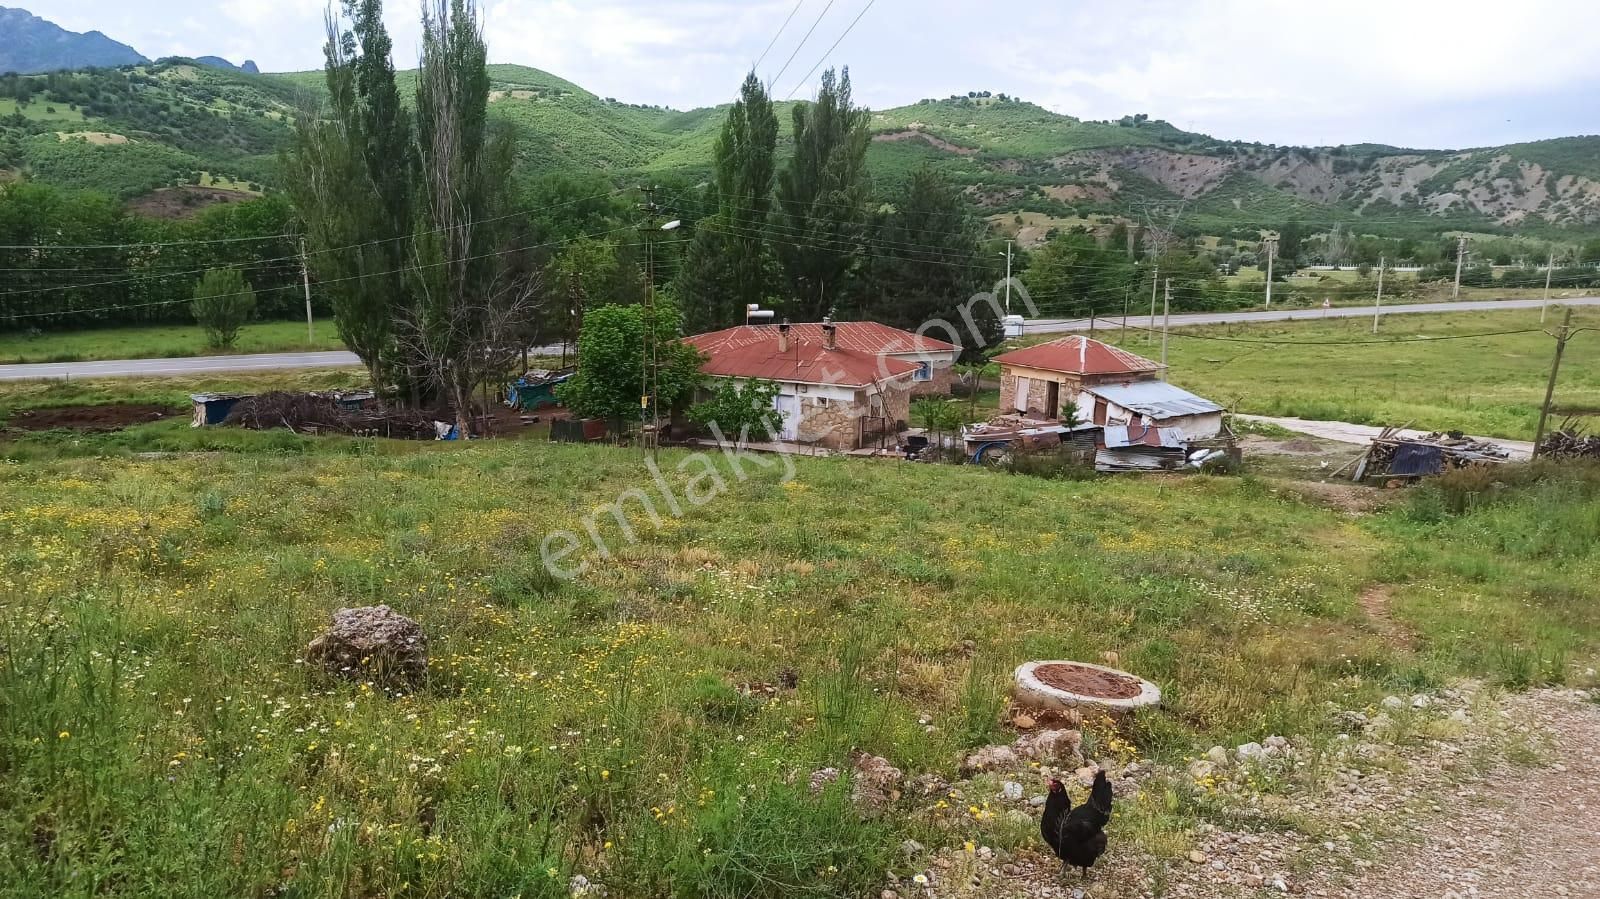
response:
<path id="1" fill-rule="evenodd" d="M 680 408 L 701 384 L 701 355 L 680 342 L 677 304 L 658 296 L 654 315 L 643 306 L 602 306 L 584 318 L 578 336 L 578 374 L 557 389 L 557 398 L 581 418 L 608 419 L 616 426 L 650 414 L 642 405 L 648 390 L 646 334 L 656 346 L 656 384 L 661 411 Z"/>

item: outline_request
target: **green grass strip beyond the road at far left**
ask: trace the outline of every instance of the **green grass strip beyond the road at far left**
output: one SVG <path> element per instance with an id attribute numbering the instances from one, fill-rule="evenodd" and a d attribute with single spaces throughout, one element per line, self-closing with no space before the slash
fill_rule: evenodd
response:
<path id="1" fill-rule="evenodd" d="M 245 325 L 232 354 L 342 350 L 331 320 L 317 322 L 317 339 L 306 339 L 304 322 Z M 0 333 L 0 365 L 29 362 L 90 362 L 99 358 L 165 358 L 208 355 L 198 325 L 149 325 L 94 331 Z"/>

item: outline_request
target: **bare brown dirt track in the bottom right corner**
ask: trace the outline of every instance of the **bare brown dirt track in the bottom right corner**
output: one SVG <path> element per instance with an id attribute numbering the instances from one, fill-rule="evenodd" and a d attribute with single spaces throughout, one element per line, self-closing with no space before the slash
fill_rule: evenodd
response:
<path id="1" fill-rule="evenodd" d="M 1459 784 L 1418 845 L 1352 883 L 1347 896 L 1600 896 L 1600 705 L 1538 693 L 1514 699 L 1512 713 L 1547 729 L 1547 763 L 1496 765 Z"/>

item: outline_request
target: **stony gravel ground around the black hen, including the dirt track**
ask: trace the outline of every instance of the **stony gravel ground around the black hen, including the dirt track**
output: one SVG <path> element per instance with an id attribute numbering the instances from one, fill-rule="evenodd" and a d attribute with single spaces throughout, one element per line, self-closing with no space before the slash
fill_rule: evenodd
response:
<path id="1" fill-rule="evenodd" d="M 1317 763 L 1315 785 L 1224 789 L 1227 827 L 1200 824 L 1178 857 L 1118 840 L 1114 816 L 1110 851 L 1086 880 L 1062 877 L 1042 845 L 954 849 L 930 859 L 926 885 L 891 883 L 885 899 L 1600 899 L 1597 699 L 1570 689 L 1491 697 L 1470 686 L 1390 697 L 1381 710 L 1339 713 L 1350 739 L 1339 758 Z M 1227 755 L 1216 777 L 1238 781 L 1245 769 Z M 1120 771 L 1117 801 L 1155 777 L 1211 777 L 1208 763 L 1195 765 Z M 1299 761 L 1290 750 L 1266 765 Z"/>

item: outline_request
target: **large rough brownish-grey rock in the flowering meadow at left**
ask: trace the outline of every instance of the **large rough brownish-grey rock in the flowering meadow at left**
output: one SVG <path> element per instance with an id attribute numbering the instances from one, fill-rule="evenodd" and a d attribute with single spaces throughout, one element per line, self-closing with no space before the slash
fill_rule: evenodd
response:
<path id="1" fill-rule="evenodd" d="M 416 686 L 427 677 L 427 635 L 389 606 L 333 613 L 333 627 L 306 646 L 306 661 L 350 680 Z"/>

